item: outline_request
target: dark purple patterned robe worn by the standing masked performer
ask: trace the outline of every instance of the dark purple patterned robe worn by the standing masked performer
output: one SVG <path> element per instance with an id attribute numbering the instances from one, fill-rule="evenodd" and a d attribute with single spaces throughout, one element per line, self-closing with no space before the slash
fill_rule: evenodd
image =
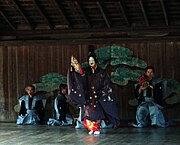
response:
<path id="1" fill-rule="evenodd" d="M 114 126 L 120 124 L 116 98 L 107 73 L 97 67 L 88 67 L 83 75 L 68 71 L 70 99 L 83 107 L 82 118 L 90 121 L 108 119 Z"/>

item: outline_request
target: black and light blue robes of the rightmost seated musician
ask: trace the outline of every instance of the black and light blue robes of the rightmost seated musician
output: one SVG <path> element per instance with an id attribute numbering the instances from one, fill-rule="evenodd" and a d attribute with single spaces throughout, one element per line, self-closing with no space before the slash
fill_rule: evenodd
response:
<path id="1" fill-rule="evenodd" d="M 139 101 L 139 106 L 136 112 L 136 123 L 133 126 L 135 127 L 145 127 L 148 125 L 166 127 L 167 123 L 165 122 L 164 115 L 162 113 L 162 99 L 163 99 L 163 81 L 151 80 L 150 84 L 153 86 L 147 87 L 140 94 L 138 90 L 140 84 L 136 87 L 136 97 Z"/>

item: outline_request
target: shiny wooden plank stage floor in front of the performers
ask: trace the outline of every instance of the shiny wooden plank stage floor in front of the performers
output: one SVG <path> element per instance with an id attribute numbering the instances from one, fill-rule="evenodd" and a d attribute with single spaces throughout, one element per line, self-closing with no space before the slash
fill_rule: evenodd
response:
<path id="1" fill-rule="evenodd" d="M 180 127 L 102 129 L 91 136 L 69 126 L 0 123 L 0 145 L 180 145 Z"/>

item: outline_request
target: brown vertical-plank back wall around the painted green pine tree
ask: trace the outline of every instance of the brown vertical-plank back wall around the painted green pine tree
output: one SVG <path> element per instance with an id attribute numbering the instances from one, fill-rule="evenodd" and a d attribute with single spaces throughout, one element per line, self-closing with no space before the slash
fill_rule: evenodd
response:
<path id="1" fill-rule="evenodd" d="M 108 44 L 96 43 L 96 48 Z M 156 67 L 156 76 L 180 81 L 180 42 L 145 41 L 117 43 L 129 48 L 134 56 L 143 59 L 148 65 Z M 14 106 L 24 93 L 24 87 L 36 83 L 47 73 L 55 72 L 66 75 L 71 54 L 80 62 L 87 58 L 88 44 L 61 44 L 52 42 L 13 42 L 0 43 L 0 121 L 15 121 L 17 113 Z M 135 108 L 128 105 L 134 97 L 133 86 L 115 87 L 121 120 L 133 120 Z M 166 107 L 165 114 L 170 119 L 180 119 L 180 105 Z M 3 115 L 4 114 L 4 115 Z"/>

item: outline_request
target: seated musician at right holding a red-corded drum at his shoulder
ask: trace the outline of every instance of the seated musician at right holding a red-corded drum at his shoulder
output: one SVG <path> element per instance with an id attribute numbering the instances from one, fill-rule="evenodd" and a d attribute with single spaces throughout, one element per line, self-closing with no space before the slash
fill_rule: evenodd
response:
<path id="1" fill-rule="evenodd" d="M 139 84 L 136 87 L 136 98 L 138 108 L 136 112 L 136 124 L 134 127 L 145 127 L 148 125 L 166 127 L 162 113 L 163 82 L 154 79 L 155 69 L 148 66 L 145 74 L 140 76 Z"/>

